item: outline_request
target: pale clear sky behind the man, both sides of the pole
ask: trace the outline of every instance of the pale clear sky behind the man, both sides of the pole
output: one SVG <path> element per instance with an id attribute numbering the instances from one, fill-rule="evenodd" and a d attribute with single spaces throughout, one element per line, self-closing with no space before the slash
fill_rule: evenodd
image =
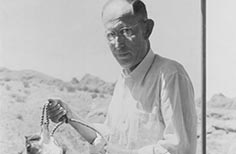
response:
<path id="1" fill-rule="evenodd" d="M 115 81 L 120 67 L 104 37 L 105 0 L 0 0 L 0 67 L 70 81 L 90 73 Z M 201 95 L 201 13 L 196 0 L 144 0 L 155 21 L 152 50 L 183 64 Z M 224 2 L 224 3 L 223 3 Z M 236 96 L 234 0 L 209 0 L 207 96 Z M 234 17 L 235 18 L 235 17 Z"/>

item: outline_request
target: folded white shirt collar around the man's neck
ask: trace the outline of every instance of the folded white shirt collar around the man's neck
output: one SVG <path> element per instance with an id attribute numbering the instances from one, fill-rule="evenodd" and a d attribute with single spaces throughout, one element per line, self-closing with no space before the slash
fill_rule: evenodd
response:
<path id="1" fill-rule="evenodd" d="M 147 55 L 141 61 L 141 63 L 132 72 L 127 74 L 125 73 L 124 69 L 122 69 L 121 71 L 122 77 L 125 79 L 128 79 L 128 78 L 137 79 L 137 78 L 143 77 L 147 73 L 150 65 L 152 64 L 154 57 L 155 57 L 155 54 L 150 49 Z"/>

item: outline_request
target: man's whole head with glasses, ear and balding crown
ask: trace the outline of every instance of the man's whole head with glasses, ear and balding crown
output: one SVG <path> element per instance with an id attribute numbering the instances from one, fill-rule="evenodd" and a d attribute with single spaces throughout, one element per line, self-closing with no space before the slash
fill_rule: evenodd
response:
<path id="1" fill-rule="evenodd" d="M 109 0 L 102 20 L 110 49 L 119 64 L 132 71 L 149 51 L 154 22 L 140 0 Z"/>

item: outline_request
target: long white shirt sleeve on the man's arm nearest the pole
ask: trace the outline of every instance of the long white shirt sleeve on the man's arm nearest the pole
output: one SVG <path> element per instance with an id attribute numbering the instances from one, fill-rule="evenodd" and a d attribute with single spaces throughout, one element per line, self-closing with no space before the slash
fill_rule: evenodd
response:
<path id="1" fill-rule="evenodd" d="M 145 154 L 195 154 L 197 116 L 194 92 L 187 75 L 163 76 L 161 113 L 165 124 L 163 139 L 139 150 Z"/>

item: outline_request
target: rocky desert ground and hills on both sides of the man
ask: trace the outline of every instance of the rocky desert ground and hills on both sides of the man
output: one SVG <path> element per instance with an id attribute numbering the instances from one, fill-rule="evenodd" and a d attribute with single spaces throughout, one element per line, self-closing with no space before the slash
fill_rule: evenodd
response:
<path id="1" fill-rule="evenodd" d="M 40 131 L 42 106 L 48 98 L 61 98 L 89 122 L 103 122 L 115 83 L 86 74 L 70 82 L 32 71 L 0 68 L 0 154 L 20 154 L 25 137 Z M 196 98 L 200 136 L 201 101 Z M 50 123 L 50 128 L 55 124 Z M 67 154 L 87 154 L 88 144 L 70 126 L 55 133 Z M 226 154 L 236 143 L 236 98 L 215 94 L 207 101 L 207 153 Z M 198 154 L 200 137 L 198 139 Z M 232 153 L 233 154 L 233 153 Z M 236 154 L 236 152 L 235 152 Z"/>

